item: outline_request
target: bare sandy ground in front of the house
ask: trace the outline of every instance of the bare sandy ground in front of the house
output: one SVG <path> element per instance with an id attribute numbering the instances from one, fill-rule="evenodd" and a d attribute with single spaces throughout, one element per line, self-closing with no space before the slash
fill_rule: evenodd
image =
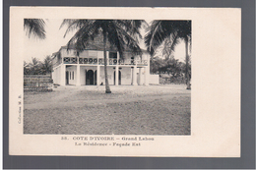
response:
<path id="1" fill-rule="evenodd" d="M 190 135 L 185 85 L 59 86 L 25 92 L 25 134 Z"/>

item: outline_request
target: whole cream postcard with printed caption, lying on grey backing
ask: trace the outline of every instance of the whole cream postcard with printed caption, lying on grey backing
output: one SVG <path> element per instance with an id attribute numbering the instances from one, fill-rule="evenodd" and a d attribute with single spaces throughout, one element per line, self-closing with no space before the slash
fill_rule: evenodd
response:
<path id="1" fill-rule="evenodd" d="M 240 12 L 12 7 L 9 153 L 240 156 Z"/>

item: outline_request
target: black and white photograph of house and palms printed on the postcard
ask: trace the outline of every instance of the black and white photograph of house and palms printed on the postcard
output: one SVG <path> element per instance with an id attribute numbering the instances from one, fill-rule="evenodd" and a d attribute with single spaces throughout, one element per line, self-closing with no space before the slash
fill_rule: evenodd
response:
<path id="1" fill-rule="evenodd" d="M 24 19 L 24 134 L 190 135 L 191 23 Z"/>

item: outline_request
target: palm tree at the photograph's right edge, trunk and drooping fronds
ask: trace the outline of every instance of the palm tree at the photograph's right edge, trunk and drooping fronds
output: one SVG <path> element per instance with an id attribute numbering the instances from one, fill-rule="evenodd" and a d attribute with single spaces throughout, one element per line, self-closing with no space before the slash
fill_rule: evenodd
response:
<path id="1" fill-rule="evenodd" d="M 169 51 L 174 51 L 175 46 L 179 43 L 179 39 L 185 41 L 186 50 L 186 83 L 187 89 L 190 89 L 189 74 L 189 54 L 188 43 L 191 43 L 191 21 L 159 21 L 155 20 L 152 25 L 147 28 L 148 33 L 145 36 L 145 43 L 152 55 L 157 48 L 165 41 L 168 44 Z M 170 43 L 169 43 L 170 42 Z"/>

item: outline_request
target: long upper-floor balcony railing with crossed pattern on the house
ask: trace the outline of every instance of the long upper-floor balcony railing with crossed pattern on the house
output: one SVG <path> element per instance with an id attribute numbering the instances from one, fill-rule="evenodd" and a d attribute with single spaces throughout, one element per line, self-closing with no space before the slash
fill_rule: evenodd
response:
<path id="1" fill-rule="evenodd" d="M 104 65 L 103 58 L 79 58 L 76 57 L 64 57 L 63 63 L 64 64 L 87 64 L 87 65 Z M 107 59 L 107 65 L 148 65 L 147 60 L 134 60 L 134 59 Z"/>

